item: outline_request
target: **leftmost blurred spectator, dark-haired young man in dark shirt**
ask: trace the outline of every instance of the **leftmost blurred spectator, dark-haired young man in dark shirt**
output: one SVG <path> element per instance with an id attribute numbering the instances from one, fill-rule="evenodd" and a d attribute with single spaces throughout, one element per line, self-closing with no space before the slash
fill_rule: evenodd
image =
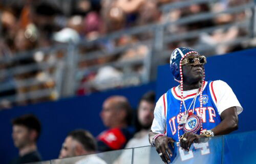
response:
<path id="1" fill-rule="evenodd" d="M 41 125 L 32 114 L 19 116 L 12 121 L 12 137 L 15 147 L 19 150 L 19 156 L 10 163 L 28 163 L 41 160 L 36 142 L 40 135 Z"/>

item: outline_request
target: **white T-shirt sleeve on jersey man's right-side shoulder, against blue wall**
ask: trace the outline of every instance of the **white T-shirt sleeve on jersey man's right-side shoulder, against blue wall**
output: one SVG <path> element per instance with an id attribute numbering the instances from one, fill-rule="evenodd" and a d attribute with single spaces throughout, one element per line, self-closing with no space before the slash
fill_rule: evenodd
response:
<path id="1" fill-rule="evenodd" d="M 213 95 L 216 99 L 216 106 L 220 115 L 224 110 L 233 106 L 237 108 L 238 114 L 243 111 L 236 95 L 234 95 L 233 90 L 226 82 L 222 80 L 213 81 L 212 88 Z"/>

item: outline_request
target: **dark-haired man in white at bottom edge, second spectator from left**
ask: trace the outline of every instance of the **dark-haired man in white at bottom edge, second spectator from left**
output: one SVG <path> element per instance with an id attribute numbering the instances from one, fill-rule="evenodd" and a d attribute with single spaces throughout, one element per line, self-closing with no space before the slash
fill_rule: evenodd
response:
<path id="1" fill-rule="evenodd" d="M 96 140 L 89 131 L 83 129 L 74 130 L 71 131 L 66 137 L 60 150 L 59 158 L 93 154 L 96 152 L 96 149 Z M 105 161 L 96 155 L 90 155 L 83 157 L 81 160 L 76 162 L 76 164 L 82 163 L 105 164 Z"/>

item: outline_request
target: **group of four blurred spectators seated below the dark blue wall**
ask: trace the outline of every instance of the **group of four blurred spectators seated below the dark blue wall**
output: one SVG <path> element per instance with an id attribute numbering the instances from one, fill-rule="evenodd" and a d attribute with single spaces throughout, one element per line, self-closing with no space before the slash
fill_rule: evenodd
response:
<path id="1" fill-rule="evenodd" d="M 150 145 L 148 132 L 154 119 L 155 97 L 154 91 L 146 92 L 137 110 L 133 110 L 129 101 L 123 96 L 107 98 L 102 103 L 100 113 L 106 130 L 94 137 L 88 130 L 74 129 L 67 134 L 66 138 L 59 138 L 63 140 L 63 144 L 59 146 L 61 147 L 58 156 L 60 160 L 56 163 L 129 163 L 131 154 L 126 154 L 125 151 L 111 161 L 108 157 L 100 158 L 95 153 Z M 89 123 L 84 122 L 84 124 Z M 11 164 L 42 160 L 37 148 L 41 127 L 44 125 L 33 114 L 20 115 L 12 120 L 12 138 L 14 146 L 18 149 L 18 156 L 10 161 Z M 47 129 L 44 130 L 47 131 Z M 50 143 L 51 138 L 47 140 Z M 75 156 L 79 157 L 67 158 Z M 149 156 L 149 152 L 144 152 L 138 160 L 145 162 Z M 61 160 L 62 158 L 65 159 Z"/>

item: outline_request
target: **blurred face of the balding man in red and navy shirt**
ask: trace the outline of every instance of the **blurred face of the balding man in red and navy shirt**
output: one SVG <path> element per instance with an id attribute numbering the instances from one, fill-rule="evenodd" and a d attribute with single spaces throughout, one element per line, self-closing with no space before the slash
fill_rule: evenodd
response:
<path id="1" fill-rule="evenodd" d="M 115 103 L 111 100 L 106 100 L 103 103 L 100 113 L 103 124 L 106 127 L 112 127 L 116 122 L 119 122 L 118 110 L 115 107 Z"/>

